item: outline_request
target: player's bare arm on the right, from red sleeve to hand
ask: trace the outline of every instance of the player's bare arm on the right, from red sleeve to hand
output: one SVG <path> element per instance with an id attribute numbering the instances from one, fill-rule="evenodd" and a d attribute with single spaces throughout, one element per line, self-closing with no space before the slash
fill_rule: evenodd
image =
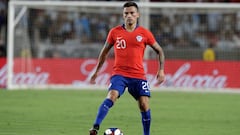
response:
<path id="1" fill-rule="evenodd" d="M 158 84 L 161 84 L 165 80 L 165 74 L 164 74 L 165 55 L 162 47 L 157 42 L 151 45 L 151 47 L 157 53 L 157 56 L 158 56 L 159 69 L 157 72 L 157 81 L 158 81 Z"/>

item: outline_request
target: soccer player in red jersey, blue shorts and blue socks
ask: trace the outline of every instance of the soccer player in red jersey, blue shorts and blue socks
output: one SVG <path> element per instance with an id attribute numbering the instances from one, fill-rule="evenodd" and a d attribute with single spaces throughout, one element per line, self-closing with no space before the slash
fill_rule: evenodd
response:
<path id="1" fill-rule="evenodd" d="M 126 88 L 138 102 L 144 135 L 150 135 L 150 89 L 143 68 L 144 50 L 146 45 L 149 45 L 158 55 L 159 69 L 156 75 L 158 84 L 161 84 L 165 79 L 164 53 L 153 34 L 138 25 L 139 16 L 138 5 L 132 1 L 126 2 L 123 5 L 124 24 L 109 31 L 104 47 L 99 54 L 97 67 L 91 76 L 90 83 L 95 84 L 95 79 L 112 47 L 115 53 L 115 63 L 107 97 L 98 109 L 95 122 L 90 129 L 90 135 L 97 135 L 100 124 L 109 109 L 121 97 Z"/>

